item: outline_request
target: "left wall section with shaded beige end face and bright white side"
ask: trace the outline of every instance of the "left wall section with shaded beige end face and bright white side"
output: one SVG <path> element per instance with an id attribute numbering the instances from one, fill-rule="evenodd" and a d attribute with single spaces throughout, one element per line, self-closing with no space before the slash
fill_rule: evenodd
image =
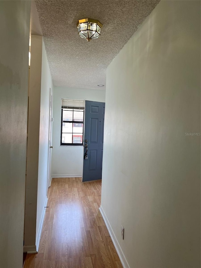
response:
<path id="1" fill-rule="evenodd" d="M 53 89 L 42 36 L 31 35 L 24 251 L 38 250 L 47 202 L 49 92 Z"/>

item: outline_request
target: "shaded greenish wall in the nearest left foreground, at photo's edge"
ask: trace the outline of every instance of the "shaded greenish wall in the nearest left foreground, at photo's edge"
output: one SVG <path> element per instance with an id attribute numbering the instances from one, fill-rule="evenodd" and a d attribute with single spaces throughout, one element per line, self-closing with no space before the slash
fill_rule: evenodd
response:
<path id="1" fill-rule="evenodd" d="M 0 1 L 0 266 L 21 268 L 30 1 Z M 11 128 L 12 126 L 12 128 Z"/>

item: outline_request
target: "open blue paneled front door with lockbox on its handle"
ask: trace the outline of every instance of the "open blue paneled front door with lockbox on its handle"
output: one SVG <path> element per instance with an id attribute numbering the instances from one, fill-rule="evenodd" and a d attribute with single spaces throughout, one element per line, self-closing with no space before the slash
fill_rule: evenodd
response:
<path id="1" fill-rule="evenodd" d="M 105 102 L 85 101 L 83 182 L 102 178 Z"/>

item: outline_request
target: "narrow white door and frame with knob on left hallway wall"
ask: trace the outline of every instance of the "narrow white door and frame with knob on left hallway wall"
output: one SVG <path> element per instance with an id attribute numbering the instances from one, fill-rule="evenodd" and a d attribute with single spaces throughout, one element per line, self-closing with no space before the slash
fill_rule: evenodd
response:
<path id="1" fill-rule="evenodd" d="M 49 135 L 48 135 L 48 160 L 47 160 L 47 191 L 51 184 L 51 155 L 52 155 L 52 93 L 50 88 L 49 97 Z"/>

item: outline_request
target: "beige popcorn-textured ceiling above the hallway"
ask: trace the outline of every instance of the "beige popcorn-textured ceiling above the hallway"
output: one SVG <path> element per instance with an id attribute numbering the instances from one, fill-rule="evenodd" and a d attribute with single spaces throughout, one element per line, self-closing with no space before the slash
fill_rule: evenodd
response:
<path id="1" fill-rule="evenodd" d="M 106 68 L 159 0 L 35 1 L 55 86 L 105 89 Z M 78 36 L 79 19 L 98 19 L 98 39 Z"/>

